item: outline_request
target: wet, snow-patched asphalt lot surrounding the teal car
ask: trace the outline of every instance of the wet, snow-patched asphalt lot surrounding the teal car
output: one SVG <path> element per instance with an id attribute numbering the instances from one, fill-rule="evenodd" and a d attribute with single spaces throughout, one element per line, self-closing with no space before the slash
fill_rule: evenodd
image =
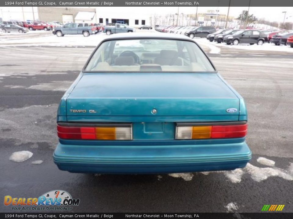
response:
<path id="1" fill-rule="evenodd" d="M 94 45 L 5 46 L 2 41 L 0 193 L 38 197 L 62 189 L 81 200 L 71 212 L 261 212 L 264 204 L 284 204 L 284 212 L 293 212 L 292 53 L 198 42 L 245 99 L 247 143 L 253 152 L 246 168 L 169 175 L 60 171 L 52 160 L 58 141 L 56 110 Z M 15 151 L 33 156 L 10 161 Z M 31 164 L 36 160 L 43 162 Z M 13 212 L 4 205 L 0 211 Z"/>

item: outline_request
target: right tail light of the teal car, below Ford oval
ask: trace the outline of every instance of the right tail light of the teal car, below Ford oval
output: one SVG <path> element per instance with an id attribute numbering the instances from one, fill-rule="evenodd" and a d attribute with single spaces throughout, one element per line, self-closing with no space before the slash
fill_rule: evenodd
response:
<path id="1" fill-rule="evenodd" d="M 207 123 L 206 123 L 207 124 Z M 178 123 L 175 139 L 210 139 L 210 138 L 241 138 L 247 134 L 247 123 L 223 125 L 190 125 Z"/>

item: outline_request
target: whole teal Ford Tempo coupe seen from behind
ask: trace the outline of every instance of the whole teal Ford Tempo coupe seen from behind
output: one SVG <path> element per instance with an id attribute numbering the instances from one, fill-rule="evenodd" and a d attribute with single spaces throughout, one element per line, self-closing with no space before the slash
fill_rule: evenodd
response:
<path id="1" fill-rule="evenodd" d="M 243 168 L 243 98 L 186 36 L 103 39 L 60 101 L 60 170 L 145 174 Z"/>

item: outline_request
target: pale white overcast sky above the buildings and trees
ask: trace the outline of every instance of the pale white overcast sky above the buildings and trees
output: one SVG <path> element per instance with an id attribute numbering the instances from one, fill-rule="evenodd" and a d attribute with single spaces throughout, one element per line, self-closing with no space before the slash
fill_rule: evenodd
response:
<path id="1" fill-rule="evenodd" d="M 27 13 L 31 12 L 32 7 L 24 7 L 24 11 Z M 179 13 L 192 14 L 196 13 L 197 7 L 179 7 Z M 97 14 L 99 11 L 109 11 L 109 13 L 121 13 L 121 7 L 96 7 Z M 228 7 L 198 7 L 198 13 L 205 13 L 207 10 L 217 10 L 219 14 L 227 14 Z M 230 7 L 230 16 L 238 17 L 243 10 L 247 10 L 248 7 Z M 128 11 L 129 10 L 129 11 Z M 178 7 L 123 7 L 123 12 L 132 13 L 133 15 L 145 15 L 149 16 L 152 14 L 175 14 L 177 13 Z M 34 7 L 34 11 L 37 12 L 37 7 Z M 283 22 L 284 12 L 286 11 L 285 22 L 293 22 L 293 7 L 250 7 L 249 14 L 253 14 L 258 18 L 264 18 L 268 21 Z M 13 19 L 16 15 L 18 16 L 21 12 L 21 7 L 0 7 L 0 17 L 3 19 Z M 291 16 L 291 17 L 290 17 Z M 286 19 L 288 17 L 288 19 Z M 17 18 L 14 18 L 17 19 Z"/>

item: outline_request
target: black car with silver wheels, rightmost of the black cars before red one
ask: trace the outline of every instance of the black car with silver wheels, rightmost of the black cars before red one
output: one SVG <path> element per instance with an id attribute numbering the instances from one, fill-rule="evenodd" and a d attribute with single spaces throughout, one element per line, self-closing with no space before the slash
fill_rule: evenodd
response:
<path id="1" fill-rule="evenodd" d="M 263 34 L 259 30 L 239 30 L 232 35 L 227 35 L 224 37 L 223 42 L 230 45 L 238 45 L 239 43 L 249 43 L 253 45 L 257 43 L 262 45 L 267 41 L 267 35 Z"/>

